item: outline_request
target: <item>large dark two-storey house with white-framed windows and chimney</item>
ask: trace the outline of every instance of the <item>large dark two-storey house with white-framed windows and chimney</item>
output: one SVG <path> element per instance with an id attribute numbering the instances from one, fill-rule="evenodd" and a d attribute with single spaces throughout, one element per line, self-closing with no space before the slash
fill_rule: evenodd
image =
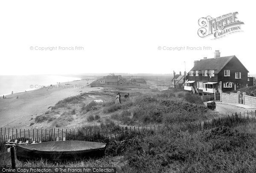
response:
<path id="1" fill-rule="evenodd" d="M 221 57 L 220 52 L 214 52 L 214 58 L 204 57 L 194 61 L 194 67 L 189 71 L 184 90 L 200 95 L 214 92 L 228 92 L 252 85 L 248 78 L 248 70 L 233 56 Z"/>

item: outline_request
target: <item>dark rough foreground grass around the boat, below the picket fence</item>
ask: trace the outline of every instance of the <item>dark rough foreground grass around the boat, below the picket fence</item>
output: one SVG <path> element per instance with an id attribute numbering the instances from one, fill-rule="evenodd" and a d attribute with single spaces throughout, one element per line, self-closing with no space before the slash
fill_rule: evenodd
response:
<path id="1" fill-rule="evenodd" d="M 128 112 L 124 112 L 126 114 Z M 105 138 L 95 133 L 94 141 L 107 143 L 106 156 L 101 159 L 51 163 L 49 161 L 16 161 L 17 167 L 58 166 L 116 166 L 117 171 L 130 172 L 248 172 L 256 170 L 256 119 L 239 116 L 215 118 L 205 122 L 204 128 L 197 123 L 171 123 L 156 131 L 128 134 L 120 138 Z M 92 131 L 97 132 L 99 127 Z M 100 129 L 120 131 L 113 121 L 102 123 Z M 247 130 L 244 130 L 247 129 Z M 76 135 L 83 136 L 84 127 Z M 73 136 L 72 140 L 85 138 Z M 9 153 L 1 147 L 0 167 L 10 167 Z M 122 159 L 117 159 L 122 158 Z"/>

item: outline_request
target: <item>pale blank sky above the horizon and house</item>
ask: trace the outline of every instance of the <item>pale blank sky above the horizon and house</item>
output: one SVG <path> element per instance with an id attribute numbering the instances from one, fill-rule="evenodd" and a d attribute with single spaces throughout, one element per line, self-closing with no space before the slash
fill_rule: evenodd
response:
<path id="1" fill-rule="evenodd" d="M 230 12 L 239 12 L 243 32 L 198 36 L 199 18 Z M 189 71 L 215 50 L 236 55 L 256 74 L 253 12 L 253 3 L 238 0 L 1 1 L 0 75 L 170 74 Z"/>

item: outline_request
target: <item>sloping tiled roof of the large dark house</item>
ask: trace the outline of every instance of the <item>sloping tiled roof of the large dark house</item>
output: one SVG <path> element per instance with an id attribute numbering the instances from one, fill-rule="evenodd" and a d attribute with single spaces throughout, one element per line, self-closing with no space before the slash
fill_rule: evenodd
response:
<path id="1" fill-rule="evenodd" d="M 221 69 L 232 59 L 236 58 L 235 55 L 219 58 L 201 59 L 195 64 L 192 70 L 215 70 L 215 74 L 218 74 Z M 239 61 L 239 60 L 238 60 Z M 245 68 L 245 67 L 244 67 Z"/>

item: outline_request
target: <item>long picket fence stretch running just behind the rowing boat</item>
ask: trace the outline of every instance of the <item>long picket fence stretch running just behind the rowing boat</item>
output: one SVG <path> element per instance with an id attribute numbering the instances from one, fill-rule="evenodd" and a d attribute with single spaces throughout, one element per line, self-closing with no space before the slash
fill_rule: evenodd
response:
<path id="1" fill-rule="evenodd" d="M 84 141 L 95 141 L 98 138 L 120 138 L 128 134 L 138 134 L 144 133 L 148 130 L 156 131 L 160 125 L 154 126 L 142 126 L 142 127 L 132 127 L 126 126 L 120 129 L 112 128 L 91 128 L 91 127 L 79 127 L 75 129 L 10 129 L 10 128 L 1 128 L 0 129 L 0 142 L 8 141 L 8 139 L 18 141 L 29 141 L 29 144 L 32 141 L 36 142 L 46 142 L 46 141 L 56 141 L 57 138 L 59 141 L 62 141 L 65 137 L 66 140 L 72 140 L 73 138 L 81 138 Z"/>

